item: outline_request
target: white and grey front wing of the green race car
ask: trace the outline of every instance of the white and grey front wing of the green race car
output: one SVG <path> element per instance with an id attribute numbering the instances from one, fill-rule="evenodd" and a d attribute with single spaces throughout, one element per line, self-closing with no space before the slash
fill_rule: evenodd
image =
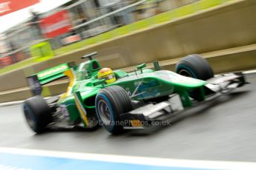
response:
<path id="1" fill-rule="evenodd" d="M 228 94 L 244 84 L 248 84 L 248 82 L 246 82 L 242 72 L 217 75 L 207 81 L 205 86 L 210 92 L 203 101 L 195 101 L 192 98 L 189 98 L 189 100 L 192 106 L 198 106 Z M 144 106 L 137 103 L 134 104 L 134 106 L 137 105 L 138 107 L 131 112 L 120 115 L 123 121 L 130 121 L 130 123 L 126 123 L 129 126 L 124 126 L 124 129 L 145 129 L 147 126 L 154 124 L 152 122 L 168 120 L 191 108 L 191 106 L 184 106 L 182 94 L 172 94 L 168 97 L 168 100 L 160 103 L 148 103 Z"/>

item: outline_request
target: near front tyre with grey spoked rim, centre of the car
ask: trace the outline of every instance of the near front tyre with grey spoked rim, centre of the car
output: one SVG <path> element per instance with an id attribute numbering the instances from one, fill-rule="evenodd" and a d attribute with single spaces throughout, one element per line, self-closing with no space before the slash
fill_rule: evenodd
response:
<path id="1" fill-rule="evenodd" d="M 116 135 L 123 132 L 120 114 L 132 109 L 131 99 L 120 86 L 101 89 L 96 95 L 96 115 L 104 128 Z"/>

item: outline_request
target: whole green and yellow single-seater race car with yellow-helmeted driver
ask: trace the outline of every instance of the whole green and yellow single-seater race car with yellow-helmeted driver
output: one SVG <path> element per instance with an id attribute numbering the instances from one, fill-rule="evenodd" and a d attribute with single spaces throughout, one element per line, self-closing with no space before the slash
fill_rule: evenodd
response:
<path id="1" fill-rule="evenodd" d="M 36 133 L 59 126 L 104 126 L 119 134 L 123 129 L 144 129 L 246 84 L 241 72 L 214 77 L 200 55 L 188 55 L 175 72 L 141 64 L 134 72 L 102 68 L 93 52 L 74 65 L 61 64 L 27 78 L 34 96 L 24 101 L 24 115 Z M 68 76 L 67 92 L 45 100 L 42 85 Z"/>

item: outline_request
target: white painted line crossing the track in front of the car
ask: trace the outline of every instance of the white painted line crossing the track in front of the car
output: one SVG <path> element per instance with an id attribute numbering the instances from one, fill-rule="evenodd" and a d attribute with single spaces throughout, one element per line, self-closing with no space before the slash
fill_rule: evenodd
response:
<path id="1" fill-rule="evenodd" d="M 148 166 L 166 166 L 166 167 L 183 167 L 196 169 L 227 169 L 227 170 L 255 170 L 256 163 L 249 162 L 234 162 L 234 161 L 216 161 L 216 160 L 178 160 L 157 157 L 137 157 L 123 156 L 115 154 L 90 154 L 78 152 L 56 152 L 35 149 L 18 149 L 0 147 L 0 153 L 7 154 L 23 154 L 30 156 L 42 157 L 60 157 L 76 160 L 94 160 L 109 163 L 132 163 L 137 165 Z"/>

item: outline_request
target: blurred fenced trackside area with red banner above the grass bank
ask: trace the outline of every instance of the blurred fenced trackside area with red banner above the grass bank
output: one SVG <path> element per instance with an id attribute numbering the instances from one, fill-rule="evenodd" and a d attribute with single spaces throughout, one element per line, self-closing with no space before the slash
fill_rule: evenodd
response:
<path id="1" fill-rule="evenodd" d="M 198 0 L 70 0 L 44 13 L 30 7 L 29 18 L 0 34 L 0 68 L 31 58 L 30 47 L 34 44 L 48 41 L 51 49 L 57 50 L 195 1 Z M 136 27 L 131 29 L 140 30 Z"/>

